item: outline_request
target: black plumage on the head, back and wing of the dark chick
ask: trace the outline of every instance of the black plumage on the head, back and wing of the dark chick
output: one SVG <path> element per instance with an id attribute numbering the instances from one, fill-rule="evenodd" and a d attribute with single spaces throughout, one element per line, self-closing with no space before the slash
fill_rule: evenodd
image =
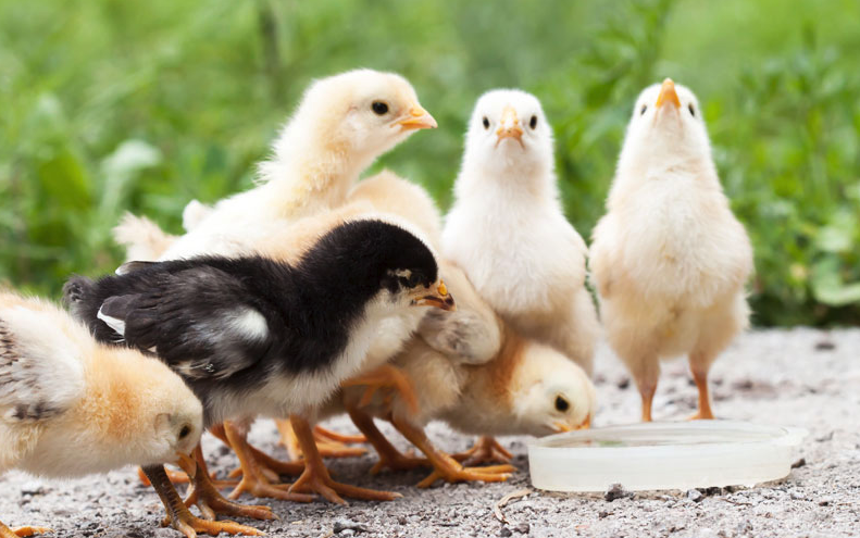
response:
<path id="1" fill-rule="evenodd" d="M 354 221 L 328 232 L 295 266 L 261 257 L 203 257 L 137 265 L 96 283 L 73 277 L 64 293 L 99 340 L 154 351 L 207 406 L 221 390 L 247 393 L 272 376 L 331 368 L 367 302 L 383 288 L 402 286 L 392 276 L 398 270 L 422 275 L 427 287 L 438 272 L 412 234 Z M 99 318 L 100 311 L 124 323 L 124 334 Z M 259 313 L 265 336 L 233 330 L 229 316 L 237 312 Z"/>

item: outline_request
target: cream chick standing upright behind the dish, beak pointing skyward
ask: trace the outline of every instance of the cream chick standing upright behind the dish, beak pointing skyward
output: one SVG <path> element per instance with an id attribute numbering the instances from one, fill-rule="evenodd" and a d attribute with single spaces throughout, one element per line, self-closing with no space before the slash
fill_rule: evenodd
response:
<path id="1" fill-rule="evenodd" d="M 694 418 L 712 418 L 708 371 L 748 324 L 752 249 L 716 176 L 699 103 L 668 78 L 636 100 L 591 267 L 643 421 L 651 420 L 660 360 L 681 354 L 699 389 Z"/>

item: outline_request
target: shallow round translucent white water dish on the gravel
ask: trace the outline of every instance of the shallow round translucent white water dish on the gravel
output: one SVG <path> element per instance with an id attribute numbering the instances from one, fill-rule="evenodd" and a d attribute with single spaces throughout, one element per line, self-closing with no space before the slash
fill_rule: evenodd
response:
<path id="1" fill-rule="evenodd" d="M 532 484 L 553 491 L 753 486 L 788 475 L 800 428 L 732 421 L 610 426 L 536 439 Z"/>

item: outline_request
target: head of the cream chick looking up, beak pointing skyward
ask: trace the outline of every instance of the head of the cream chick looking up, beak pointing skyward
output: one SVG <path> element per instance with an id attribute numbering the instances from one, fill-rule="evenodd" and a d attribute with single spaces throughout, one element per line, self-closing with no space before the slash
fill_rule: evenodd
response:
<path id="1" fill-rule="evenodd" d="M 696 96 L 666 78 L 639 93 L 627 124 L 620 167 L 710 164 L 708 130 Z"/>

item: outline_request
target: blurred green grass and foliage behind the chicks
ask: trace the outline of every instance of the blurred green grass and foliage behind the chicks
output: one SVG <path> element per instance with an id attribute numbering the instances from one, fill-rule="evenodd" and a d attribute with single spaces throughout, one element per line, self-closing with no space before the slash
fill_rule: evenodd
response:
<path id="1" fill-rule="evenodd" d="M 57 296 L 111 271 L 126 210 L 178 232 L 189 199 L 251 185 L 313 77 L 357 66 L 403 74 L 437 118 L 374 170 L 443 208 L 475 99 L 536 93 L 588 237 L 633 100 L 671 76 L 752 237 L 755 323 L 858 324 L 859 58 L 856 0 L 0 0 L 0 280 Z"/>

